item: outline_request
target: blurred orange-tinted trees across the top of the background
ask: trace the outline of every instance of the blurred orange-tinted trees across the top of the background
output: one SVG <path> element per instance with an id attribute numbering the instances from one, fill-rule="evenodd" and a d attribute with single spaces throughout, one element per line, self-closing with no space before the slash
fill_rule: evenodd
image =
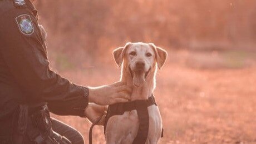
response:
<path id="1" fill-rule="evenodd" d="M 239 48 L 255 44 L 255 0 L 38 1 L 61 51 L 94 57 L 127 41 L 165 48 Z M 58 41 L 58 42 L 57 42 Z"/>

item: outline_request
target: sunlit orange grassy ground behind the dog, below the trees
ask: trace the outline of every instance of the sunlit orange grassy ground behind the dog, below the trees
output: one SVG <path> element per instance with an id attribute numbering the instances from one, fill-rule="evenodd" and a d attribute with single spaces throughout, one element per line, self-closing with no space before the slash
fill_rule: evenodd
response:
<path id="1" fill-rule="evenodd" d="M 154 92 L 164 125 L 160 143 L 256 143 L 255 63 L 250 51 L 169 51 Z M 59 73 L 99 86 L 119 80 L 114 61 L 109 65 Z M 77 128 L 88 143 L 88 121 L 54 117 Z M 95 127 L 93 142 L 105 143 L 103 127 Z"/>

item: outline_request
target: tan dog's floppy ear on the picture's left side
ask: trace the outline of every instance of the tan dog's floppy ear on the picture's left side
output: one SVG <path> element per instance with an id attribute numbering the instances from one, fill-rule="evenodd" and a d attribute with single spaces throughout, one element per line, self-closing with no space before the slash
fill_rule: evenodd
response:
<path id="1" fill-rule="evenodd" d="M 118 67 L 120 67 L 122 65 L 122 61 L 124 61 L 125 51 L 129 47 L 130 44 L 131 43 L 128 42 L 128 43 L 125 44 L 124 47 L 116 48 L 113 51 L 113 56 L 114 56 L 115 62 L 116 62 Z"/>

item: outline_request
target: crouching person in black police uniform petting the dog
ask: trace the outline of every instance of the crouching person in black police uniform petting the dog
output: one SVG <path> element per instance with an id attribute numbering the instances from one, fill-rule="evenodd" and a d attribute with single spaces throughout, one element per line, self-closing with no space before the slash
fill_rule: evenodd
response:
<path id="1" fill-rule="evenodd" d="M 49 111 L 95 122 L 129 101 L 125 83 L 83 87 L 51 71 L 45 38 L 32 0 L 0 0 L 0 143 L 84 143 Z"/>

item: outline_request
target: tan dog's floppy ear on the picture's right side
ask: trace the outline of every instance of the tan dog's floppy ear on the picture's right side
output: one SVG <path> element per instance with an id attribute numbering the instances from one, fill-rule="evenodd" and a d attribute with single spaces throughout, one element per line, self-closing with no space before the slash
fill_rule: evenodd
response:
<path id="1" fill-rule="evenodd" d="M 154 43 L 149 43 L 149 45 L 154 49 L 157 66 L 161 69 L 164 66 L 168 54 L 163 48 L 156 47 Z"/>

